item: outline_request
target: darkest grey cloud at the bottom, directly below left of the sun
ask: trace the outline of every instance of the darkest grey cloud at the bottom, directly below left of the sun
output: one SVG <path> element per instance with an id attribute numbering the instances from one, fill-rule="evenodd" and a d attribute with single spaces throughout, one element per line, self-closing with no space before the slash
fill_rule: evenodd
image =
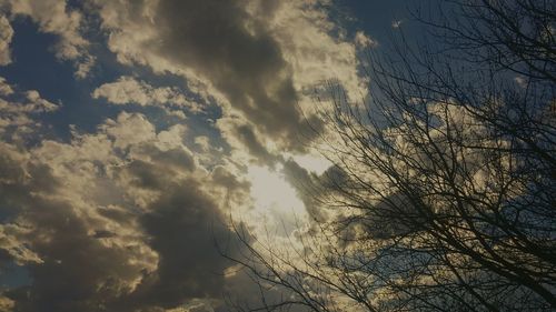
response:
<path id="1" fill-rule="evenodd" d="M 187 185 L 187 188 L 185 188 Z M 218 298 L 230 264 L 215 248 L 231 232 L 196 181 L 170 187 L 141 217 L 149 244 L 159 254 L 156 273 L 131 295 L 142 305 L 175 308 L 192 298 Z"/>

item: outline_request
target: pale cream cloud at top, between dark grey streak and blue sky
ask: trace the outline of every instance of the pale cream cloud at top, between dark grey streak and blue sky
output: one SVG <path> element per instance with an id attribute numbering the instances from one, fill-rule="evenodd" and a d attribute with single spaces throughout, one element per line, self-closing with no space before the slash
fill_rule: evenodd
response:
<path id="1" fill-rule="evenodd" d="M 317 3 L 281 1 L 268 27 L 292 67 L 298 91 L 312 94 L 315 88 L 334 80 L 354 100 L 366 94 L 366 80 L 357 72 L 359 60 L 355 44 L 331 34 L 341 26 L 335 24 Z"/>

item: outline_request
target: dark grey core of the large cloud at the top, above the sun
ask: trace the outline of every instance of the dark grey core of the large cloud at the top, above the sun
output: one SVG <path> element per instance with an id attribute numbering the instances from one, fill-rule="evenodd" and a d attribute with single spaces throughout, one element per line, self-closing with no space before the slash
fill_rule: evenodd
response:
<path id="1" fill-rule="evenodd" d="M 265 134 L 288 141 L 304 125 L 279 44 L 240 0 L 160 1 L 158 52 L 193 68 Z M 264 6 L 271 14 L 274 6 Z M 287 142 L 295 144 L 296 142 Z"/>

